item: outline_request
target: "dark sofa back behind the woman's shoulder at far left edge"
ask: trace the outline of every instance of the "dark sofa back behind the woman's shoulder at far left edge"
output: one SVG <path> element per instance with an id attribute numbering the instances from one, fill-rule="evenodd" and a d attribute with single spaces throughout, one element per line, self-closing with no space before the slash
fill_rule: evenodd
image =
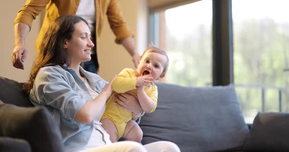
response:
<path id="1" fill-rule="evenodd" d="M 33 106 L 22 86 L 23 83 L 0 76 L 0 100 L 21 107 Z"/>

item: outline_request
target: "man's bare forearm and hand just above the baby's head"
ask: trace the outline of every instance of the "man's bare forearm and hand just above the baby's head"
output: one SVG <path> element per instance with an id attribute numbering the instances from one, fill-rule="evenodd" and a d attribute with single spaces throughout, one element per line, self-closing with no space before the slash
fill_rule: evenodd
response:
<path id="1" fill-rule="evenodd" d="M 140 55 L 135 47 L 135 43 L 132 37 L 127 37 L 121 41 L 121 44 L 126 51 L 132 56 L 133 63 L 137 68 L 139 65 Z"/>

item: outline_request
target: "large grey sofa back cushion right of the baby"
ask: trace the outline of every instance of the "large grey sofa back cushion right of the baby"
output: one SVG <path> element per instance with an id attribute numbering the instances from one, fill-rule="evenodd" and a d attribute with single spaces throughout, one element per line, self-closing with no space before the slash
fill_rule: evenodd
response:
<path id="1" fill-rule="evenodd" d="M 233 86 L 156 84 L 157 108 L 140 122 L 143 144 L 172 141 L 181 152 L 242 150 L 249 130 Z"/>

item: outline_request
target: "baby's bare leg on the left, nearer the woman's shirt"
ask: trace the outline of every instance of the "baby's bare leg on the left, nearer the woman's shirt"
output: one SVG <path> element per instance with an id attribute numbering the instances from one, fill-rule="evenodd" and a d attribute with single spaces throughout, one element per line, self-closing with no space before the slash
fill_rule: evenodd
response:
<path id="1" fill-rule="evenodd" d="M 113 123 L 113 121 L 109 118 L 102 118 L 100 119 L 100 122 L 102 123 L 102 128 L 109 134 L 109 139 L 111 142 L 117 142 L 118 141 L 118 130 L 116 125 Z"/>

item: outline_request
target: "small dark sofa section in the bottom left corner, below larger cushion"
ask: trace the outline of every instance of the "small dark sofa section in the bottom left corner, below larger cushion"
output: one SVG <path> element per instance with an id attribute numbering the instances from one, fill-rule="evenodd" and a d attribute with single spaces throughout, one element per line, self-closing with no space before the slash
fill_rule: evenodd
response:
<path id="1" fill-rule="evenodd" d="M 26 140 L 0 137 L 0 152 L 32 152 Z"/>

